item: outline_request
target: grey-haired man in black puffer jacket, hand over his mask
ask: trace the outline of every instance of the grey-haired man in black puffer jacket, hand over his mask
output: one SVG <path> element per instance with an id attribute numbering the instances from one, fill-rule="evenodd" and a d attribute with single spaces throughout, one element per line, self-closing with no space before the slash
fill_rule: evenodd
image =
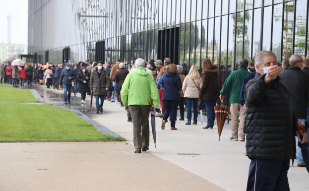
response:
<path id="1" fill-rule="evenodd" d="M 247 191 L 289 191 L 295 133 L 289 92 L 277 77 L 281 68 L 272 52 L 257 53 L 255 68 L 255 78 L 245 86 L 246 147 L 251 159 Z"/>

